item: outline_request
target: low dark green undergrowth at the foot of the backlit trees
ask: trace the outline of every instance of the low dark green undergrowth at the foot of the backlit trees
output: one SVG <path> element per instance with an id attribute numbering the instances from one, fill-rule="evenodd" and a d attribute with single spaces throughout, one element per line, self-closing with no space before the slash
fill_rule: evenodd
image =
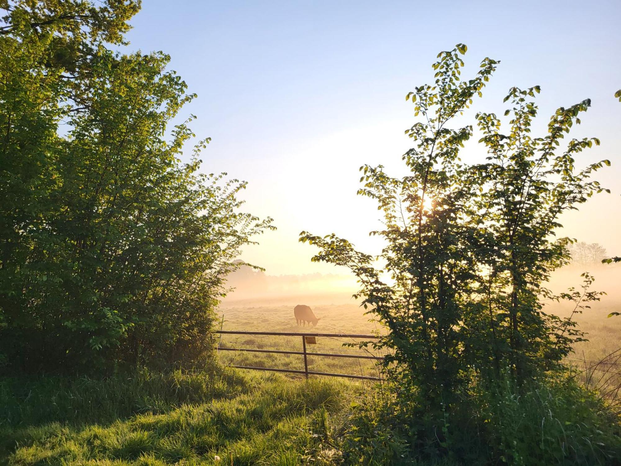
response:
<path id="1" fill-rule="evenodd" d="M 343 455 L 350 464 L 410 464 L 446 455 L 461 464 L 606 465 L 621 454 L 621 424 L 570 374 L 518 388 L 502 378 L 493 390 L 473 385 L 465 409 L 436 419 L 437 436 L 417 435 L 412 418 L 390 396 L 353 406 Z"/>

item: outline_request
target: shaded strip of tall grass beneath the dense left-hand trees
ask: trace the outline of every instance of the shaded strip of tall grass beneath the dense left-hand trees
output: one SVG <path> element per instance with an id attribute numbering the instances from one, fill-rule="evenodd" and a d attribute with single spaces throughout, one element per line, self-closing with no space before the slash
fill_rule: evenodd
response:
<path id="1" fill-rule="evenodd" d="M 107 378 L 0 378 L 0 429 L 48 422 L 109 423 L 137 413 L 164 413 L 183 403 L 232 398 L 252 390 L 233 371 L 135 372 Z"/>

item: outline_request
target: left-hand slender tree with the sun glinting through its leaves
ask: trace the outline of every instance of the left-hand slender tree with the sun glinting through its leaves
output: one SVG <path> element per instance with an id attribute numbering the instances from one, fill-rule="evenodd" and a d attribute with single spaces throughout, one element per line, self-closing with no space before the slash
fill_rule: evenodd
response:
<path id="1" fill-rule="evenodd" d="M 358 276 L 365 308 L 371 306 L 390 329 L 378 343 L 394 350 L 388 367 L 397 362 L 391 371 L 417 387 L 428 406 L 452 400 L 466 382 L 462 361 L 468 335 L 462 322 L 481 307 L 471 299 L 481 244 L 474 211 L 479 181 L 458 158 L 472 127 L 448 124 L 481 95 L 497 62 L 486 58 L 473 79 L 461 81 L 465 52 L 462 44 L 441 52 L 433 65 L 434 85 L 406 96 L 415 116 L 423 117 L 406 130 L 416 142 L 402 157 L 410 174 L 399 179 L 381 166 L 361 167 L 365 186 L 359 194 L 376 199 L 384 212 L 385 229 L 371 234 L 386 240 L 385 266 L 374 268 L 373 257 L 335 235 L 301 234 L 302 241 L 321 249 L 313 260 L 345 265 Z"/>

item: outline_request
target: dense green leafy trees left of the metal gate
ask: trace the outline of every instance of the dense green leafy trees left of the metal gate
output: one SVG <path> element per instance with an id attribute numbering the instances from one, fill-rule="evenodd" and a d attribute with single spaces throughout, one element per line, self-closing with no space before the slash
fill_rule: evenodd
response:
<path id="1" fill-rule="evenodd" d="M 161 52 L 119 55 L 138 2 L 0 2 L 0 354 L 16 370 L 197 361 L 252 235 L 245 183 L 168 126 L 194 98 Z"/>

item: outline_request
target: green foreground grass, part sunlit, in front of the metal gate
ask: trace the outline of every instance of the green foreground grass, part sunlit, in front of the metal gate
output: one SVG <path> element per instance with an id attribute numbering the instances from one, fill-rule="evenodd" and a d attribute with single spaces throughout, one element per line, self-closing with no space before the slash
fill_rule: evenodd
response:
<path id="1" fill-rule="evenodd" d="M 335 464 L 334 426 L 356 389 L 234 371 L 10 385 L 0 398 L 8 465 Z"/>

